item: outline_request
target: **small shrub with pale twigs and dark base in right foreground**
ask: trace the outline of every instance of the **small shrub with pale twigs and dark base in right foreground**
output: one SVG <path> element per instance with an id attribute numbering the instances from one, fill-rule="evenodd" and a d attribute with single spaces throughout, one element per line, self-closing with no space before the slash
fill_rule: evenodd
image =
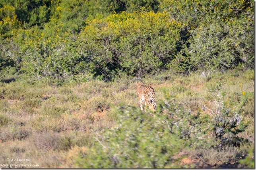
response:
<path id="1" fill-rule="evenodd" d="M 211 110 L 213 121 L 211 121 L 210 133 L 216 141 L 219 141 L 219 146 L 239 145 L 240 139 L 236 135 L 246 127 L 241 116 L 242 106 L 247 99 L 245 93 L 242 92 L 240 103 L 230 100 L 225 97 L 225 93 L 222 93 Z"/>

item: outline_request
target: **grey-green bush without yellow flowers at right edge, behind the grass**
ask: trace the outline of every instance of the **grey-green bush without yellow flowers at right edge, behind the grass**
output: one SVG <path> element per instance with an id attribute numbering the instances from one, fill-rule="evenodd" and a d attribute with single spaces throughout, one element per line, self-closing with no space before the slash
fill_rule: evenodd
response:
<path id="1" fill-rule="evenodd" d="M 254 34 L 250 22 L 209 23 L 192 31 L 186 54 L 198 70 L 254 68 Z"/>

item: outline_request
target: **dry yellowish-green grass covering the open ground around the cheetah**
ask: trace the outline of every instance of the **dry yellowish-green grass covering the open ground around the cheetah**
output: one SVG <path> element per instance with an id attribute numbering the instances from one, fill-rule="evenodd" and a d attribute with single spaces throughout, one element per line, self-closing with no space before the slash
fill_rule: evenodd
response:
<path id="1" fill-rule="evenodd" d="M 239 135 L 254 140 L 254 70 L 211 75 L 161 73 L 143 81 L 155 89 L 156 103 L 167 91 L 192 112 L 202 109 L 205 114 L 217 99 L 215 91 L 221 89 L 235 101 L 246 91 L 250 96 L 242 116 L 250 126 Z M 7 164 L 10 157 L 29 157 L 29 163 L 40 168 L 79 168 L 74 164 L 77 154 L 93 145 L 94 134 L 114 126 L 118 115 L 112 108 L 121 103 L 139 107 L 136 79 L 93 80 L 60 87 L 49 81 L 0 81 L 0 164 Z M 254 149 L 254 145 L 191 153 L 214 166 L 235 162 L 246 149 Z"/>

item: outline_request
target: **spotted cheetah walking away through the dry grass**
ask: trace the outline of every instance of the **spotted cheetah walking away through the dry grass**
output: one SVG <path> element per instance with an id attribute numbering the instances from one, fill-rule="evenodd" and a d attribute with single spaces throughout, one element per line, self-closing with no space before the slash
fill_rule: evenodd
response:
<path id="1" fill-rule="evenodd" d="M 142 102 L 145 100 L 145 105 L 149 106 L 149 109 L 155 111 L 157 104 L 155 103 L 155 91 L 153 87 L 144 85 L 142 82 L 137 83 L 137 95 L 140 100 L 140 109 L 143 110 Z"/>

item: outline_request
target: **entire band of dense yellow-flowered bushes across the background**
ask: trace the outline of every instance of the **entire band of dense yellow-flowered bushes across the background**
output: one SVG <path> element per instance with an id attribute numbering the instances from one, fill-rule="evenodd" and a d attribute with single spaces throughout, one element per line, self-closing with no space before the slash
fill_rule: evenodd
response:
<path id="1" fill-rule="evenodd" d="M 254 68 L 252 1 L 18 4 L 0 5 L 2 71 L 85 81 L 91 75 L 110 80 L 162 70 Z"/>

